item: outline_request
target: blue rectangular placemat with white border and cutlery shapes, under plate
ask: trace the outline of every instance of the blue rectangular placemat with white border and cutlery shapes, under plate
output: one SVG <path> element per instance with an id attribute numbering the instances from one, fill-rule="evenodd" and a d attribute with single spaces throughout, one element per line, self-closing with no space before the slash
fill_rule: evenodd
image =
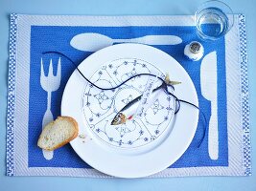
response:
<path id="1" fill-rule="evenodd" d="M 105 38 L 91 39 L 93 44 L 89 48 L 82 47 L 82 43 L 71 43 L 79 35 L 82 41 L 86 34 L 92 33 L 104 35 Z M 130 39 L 133 42 L 132 39 L 147 35 L 156 38 L 174 35 L 181 39 L 181 42 L 167 41 L 151 45 L 150 41 L 145 40 L 144 43 L 169 53 L 182 65 L 195 84 L 200 110 L 207 122 L 216 114 L 216 119 L 210 123 L 218 127 L 218 132 L 215 132 L 218 135 L 215 146 L 218 146 L 215 153 L 210 154 L 208 126 L 198 147 L 205 130 L 200 115 L 195 138 L 188 150 L 168 169 L 152 177 L 250 175 L 244 15 L 235 16 L 235 25 L 225 37 L 206 42 L 198 39 L 192 16 L 20 14 L 11 16 L 7 175 L 107 177 L 82 161 L 69 144 L 54 151 L 50 157 L 44 156 L 36 146 L 46 111 L 50 110 L 53 118 L 60 116 L 61 96 L 69 76 L 75 70 L 67 58 L 57 53 L 43 53 L 63 53 L 79 64 L 94 51 L 115 44 L 115 39 Z M 185 46 L 194 40 L 204 47 L 204 57 L 195 62 L 183 54 Z M 203 62 L 209 62 L 211 67 L 203 69 Z M 60 82 L 56 84 L 53 81 L 52 88 L 45 88 L 41 75 L 47 76 L 51 70 L 54 75 L 61 70 Z M 208 79 L 203 81 L 205 75 L 211 78 L 214 74 L 214 83 L 213 79 L 210 83 L 206 82 Z M 206 85 L 203 85 L 204 82 Z M 210 87 L 212 84 L 216 86 L 216 91 Z M 216 100 L 205 96 L 207 91 L 213 95 L 216 92 Z"/>

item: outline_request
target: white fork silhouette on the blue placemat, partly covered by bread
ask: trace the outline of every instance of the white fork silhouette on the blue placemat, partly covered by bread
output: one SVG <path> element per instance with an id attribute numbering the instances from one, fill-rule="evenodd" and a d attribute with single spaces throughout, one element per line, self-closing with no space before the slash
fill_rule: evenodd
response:
<path id="1" fill-rule="evenodd" d="M 49 72 L 46 76 L 44 74 L 43 69 L 43 60 L 41 58 L 41 74 L 40 74 L 40 84 L 43 90 L 47 92 L 47 109 L 45 111 L 45 114 L 42 119 L 42 129 L 51 121 L 54 120 L 53 114 L 51 112 L 51 99 L 52 99 L 52 92 L 55 92 L 58 90 L 60 85 L 60 79 L 61 79 L 61 63 L 60 63 L 60 57 L 58 58 L 58 70 L 57 75 L 54 75 L 53 70 L 53 60 L 50 60 L 49 65 Z M 46 151 L 42 149 L 43 157 L 45 159 L 53 159 L 54 152 L 53 151 Z"/>

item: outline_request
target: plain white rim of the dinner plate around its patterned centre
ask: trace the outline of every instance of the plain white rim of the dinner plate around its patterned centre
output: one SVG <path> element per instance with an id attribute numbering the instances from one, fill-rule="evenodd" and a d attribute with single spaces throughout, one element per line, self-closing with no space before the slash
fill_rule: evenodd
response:
<path id="1" fill-rule="evenodd" d="M 83 60 L 79 69 L 85 76 L 93 79 L 96 72 L 98 74 L 99 69 L 105 68 L 108 63 L 125 59 L 145 62 L 148 63 L 147 66 L 155 68 L 155 70 L 169 73 L 171 80 L 182 82 L 175 86 L 175 96 L 198 105 L 194 84 L 181 65 L 167 53 L 147 45 L 128 43 L 107 47 Z M 130 67 L 127 69 L 129 71 Z M 114 78 L 112 79 L 114 80 Z M 96 79 L 93 80 L 97 81 Z M 136 86 L 136 83 L 134 82 L 133 86 Z M 105 85 L 104 83 L 98 85 L 100 84 Z M 132 83 L 130 83 L 131 86 Z M 160 172 L 182 156 L 196 133 L 198 109 L 181 103 L 179 112 L 171 117 L 170 125 L 164 128 L 162 135 L 155 138 L 151 143 L 141 144 L 138 147 L 111 145 L 97 136 L 97 131 L 95 132 L 90 128 L 90 121 L 88 122 L 86 119 L 88 118 L 86 115 L 89 113 L 84 107 L 86 106 L 84 100 L 88 95 L 89 87 L 81 74 L 75 71 L 64 90 L 61 115 L 74 117 L 79 123 L 81 137 L 71 142 L 74 150 L 81 159 L 105 174 L 122 178 L 138 178 Z M 113 91 L 112 94 L 114 95 L 116 92 L 118 91 Z M 102 95 L 101 98 L 104 100 L 104 97 Z M 115 112 L 113 110 L 113 113 L 109 115 L 114 117 Z M 158 117 L 155 117 L 156 119 Z M 105 125 L 105 128 L 113 128 L 113 126 Z"/>

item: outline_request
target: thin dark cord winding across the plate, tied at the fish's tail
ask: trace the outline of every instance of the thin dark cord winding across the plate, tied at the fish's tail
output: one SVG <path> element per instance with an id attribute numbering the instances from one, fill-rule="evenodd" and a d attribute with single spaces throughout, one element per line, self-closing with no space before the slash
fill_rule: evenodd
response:
<path id="1" fill-rule="evenodd" d="M 103 88 L 103 87 L 97 86 L 96 84 L 94 84 L 93 82 L 91 82 L 86 76 L 84 76 L 84 74 L 81 73 L 81 70 L 80 70 L 80 69 L 78 68 L 78 66 L 75 64 L 75 62 L 74 62 L 72 59 L 70 59 L 67 55 L 65 55 L 64 53 L 59 53 L 59 52 L 55 52 L 55 51 L 49 51 L 49 52 L 44 52 L 44 53 L 42 53 L 42 54 L 47 54 L 47 53 L 57 53 L 57 54 L 60 54 L 60 55 L 64 56 L 65 58 L 67 58 L 67 59 L 74 65 L 75 69 L 81 74 L 81 76 L 82 76 L 87 82 L 89 82 L 91 85 L 95 86 L 96 88 L 98 88 L 98 89 L 100 89 L 100 90 L 104 90 L 104 91 L 117 89 L 117 88 L 121 87 L 122 85 L 124 85 L 125 83 L 127 83 L 130 79 L 132 79 L 132 78 L 134 78 L 134 77 L 137 77 L 137 76 L 150 75 L 150 76 L 157 77 L 159 80 L 162 81 L 162 85 L 163 85 L 163 88 L 164 88 L 164 91 L 166 92 L 166 94 L 175 97 L 175 103 L 177 104 L 177 107 L 175 108 L 175 115 L 178 113 L 178 111 L 179 111 L 179 109 L 180 109 L 180 102 L 189 104 L 189 105 L 191 105 L 191 106 L 197 108 L 198 111 L 201 112 L 200 109 L 199 109 L 199 107 L 198 107 L 197 105 L 195 105 L 194 103 L 191 103 L 191 102 L 186 101 L 186 100 L 183 100 L 183 99 L 179 99 L 179 98 L 177 98 L 177 96 L 175 96 L 173 93 L 169 92 L 169 91 L 168 91 L 168 87 L 172 87 L 172 89 L 173 89 L 174 91 L 175 91 L 175 87 L 174 87 L 173 85 L 171 85 L 171 84 L 167 84 L 166 81 L 165 81 L 163 78 L 161 78 L 161 77 L 159 77 L 159 76 L 157 76 L 157 75 L 155 75 L 155 74 L 147 74 L 147 73 L 135 74 L 135 75 L 130 76 L 128 79 L 126 79 L 125 81 L 123 81 L 122 83 L 120 83 L 119 85 L 117 85 L 117 86 L 115 86 L 115 87 Z M 201 112 L 201 114 L 203 115 L 203 119 L 204 119 L 204 122 L 205 122 L 205 125 L 206 125 L 206 121 L 207 121 L 207 120 L 206 120 L 206 117 L 205 117 L 205 115 L 204 115 L 203 112 Z M 198 144 L 198 147 L 201 145 L 201 143 L 202 143 L 202 141 L 203 141 L 203 139 L 204 139 L 204 137 L 205 137 L 205 134 L 206 134 L 206 127 L 205 127 L 204 125 L 203 125 L 203 127 L 204 127 L 204 128 L 203 128 L 203 137 L 201 138 L 201 140 L 200 140 L 200 142 L 199 142 L 199 144 Z"/>

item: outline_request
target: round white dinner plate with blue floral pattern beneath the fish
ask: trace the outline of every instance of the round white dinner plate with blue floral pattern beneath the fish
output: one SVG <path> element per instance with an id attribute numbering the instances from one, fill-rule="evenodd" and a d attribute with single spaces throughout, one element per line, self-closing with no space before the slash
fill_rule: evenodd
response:
<path id="1" fill-rule="evenodd" d="M 190 76 L 172 56 L 151 46 L 110 46 L 88 56 L 79 69 L 104 88 L 116 86 L 134 74 L 170 74 L 171 80 L 181 82 L 175 85 L 175 96 L 198 105 Z M 149 76 L 140 76 L 116 90 L 102 91 L 77 70 L 69 78 L 62 96 L 61 116 L 78 121 L 80 136 L 70 143 L 93 168 L 115 177 L 146 177 L 172 165 L 188 148 L 197 129 L 198 109 L 180 103 L 175 114 L 175 98 L 164 91 L 159 91 L 143 117 L 124 125 L 110 125 L 121 108 L 143 94 L 148 80 Z M 154 86 L 159 84 L 158 80 Z"/>

